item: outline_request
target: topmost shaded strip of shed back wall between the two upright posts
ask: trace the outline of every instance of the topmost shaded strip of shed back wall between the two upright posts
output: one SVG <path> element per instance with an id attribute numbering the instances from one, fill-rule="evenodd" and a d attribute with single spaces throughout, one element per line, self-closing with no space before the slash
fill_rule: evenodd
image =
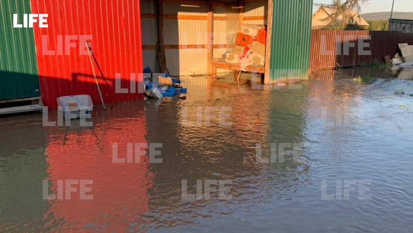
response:
<path id="1" fill-rule="evenodd" d="M 164 2 L 163 6 L 164 14 L 207 16 L 207 5 Z"/>

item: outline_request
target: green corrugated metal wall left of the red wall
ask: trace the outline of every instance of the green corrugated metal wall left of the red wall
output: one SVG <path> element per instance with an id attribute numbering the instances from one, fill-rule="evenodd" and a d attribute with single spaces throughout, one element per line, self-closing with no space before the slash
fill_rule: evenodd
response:
<path id="1" fill-rule="evenodd" d="M 0 100 L 40 97 L 32 28 L 13 28 L 13 14 L 30 14 L 30 1 L 0 0 Z"/>

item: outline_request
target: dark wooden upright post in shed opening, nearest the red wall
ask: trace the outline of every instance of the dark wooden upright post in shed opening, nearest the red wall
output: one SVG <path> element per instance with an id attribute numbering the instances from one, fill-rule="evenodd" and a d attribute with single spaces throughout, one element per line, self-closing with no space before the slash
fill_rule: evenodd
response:
<path id="1" fill-rule="evenodd" d="M 165 57 L 165 42 L 163 34 L 163 0 L 158 0 L 158 45 L 156 46 L 156 57 L 158 59 L 159 72 L 167 72 L 167 61 Z"/>

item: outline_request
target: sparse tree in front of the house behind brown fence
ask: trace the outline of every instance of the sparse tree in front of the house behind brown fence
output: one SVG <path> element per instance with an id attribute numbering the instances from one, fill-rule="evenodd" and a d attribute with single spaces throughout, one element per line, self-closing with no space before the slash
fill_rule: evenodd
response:
<path id="1" fill-rule="evenodd" d="M 357 18 L 351 14 L 350 10 L 354 10 L 357 14 L 361 13 L 360 5 L 370 0 L 332 0 L 330 5 L 317 4 L 319 6 L 325 6 L 327 8 L 335 9 L 335 12 L 331 14 L 331 23 L 326 29 L 330 30 L 346 30 L 348 25 L 357 25 Z"/>

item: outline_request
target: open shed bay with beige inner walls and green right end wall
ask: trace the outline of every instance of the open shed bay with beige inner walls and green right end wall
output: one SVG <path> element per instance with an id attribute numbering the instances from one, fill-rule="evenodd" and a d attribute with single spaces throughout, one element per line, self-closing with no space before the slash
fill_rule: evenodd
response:
<path id="1" fill-rule="evenodd" d="M 144 66 L 158 70 L 156 1 L 141 0 Z M 207 74 L 208 1 L 164 0 L 166 65 L 172 75 Z M 273 7 L 274 6 L 274 7 Z M 240 25 L 271 24 L 266 82 L 308 77 L 313 0 L 213 1 L 213 57 L 221 58 Z M 268 13 L 271 22 L 268 22 Z M 155 28 L 155 29 L 154 29 Z M 272 32 L 272 33 L 271 33 Z M 271 36 L 272 34 L 272 36 Z M 230 70 L 219 70 L 218 72 Z"/>

